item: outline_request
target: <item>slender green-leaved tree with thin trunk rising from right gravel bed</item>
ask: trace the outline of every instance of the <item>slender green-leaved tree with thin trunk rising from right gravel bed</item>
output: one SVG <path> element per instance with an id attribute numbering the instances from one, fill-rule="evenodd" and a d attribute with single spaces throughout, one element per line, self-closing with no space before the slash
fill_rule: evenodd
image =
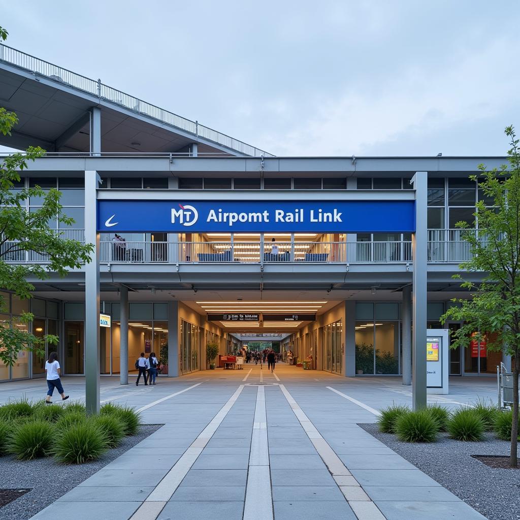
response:
<path id="1" fill-rule="evenodd" d="M 517 467 L 518 374 L 520 372 L 520 149 L 513 126 L 505 129 L 510 139 L 509 164 L 470 178 L 478 182 L 484 200 L 476 203 L 474 216 L 478 232 L 466 222 L 458 222 L 462 238 L 470 244 L 471 259 L 460 264 L 462 272 L 482 272 L 482 282 L 463 280 L 471 299 L 455 298 L 459 307 L 446 311 L 441 322 L 462 321 L 453 335 L 452 348 L 466 347 L 471 340 L 486 339 L 490 350 L 514 356 L 513 423 L 511 467 Z M 479 197 L 480 199 L 480 197 Z M 491 207 L 492 206 L 492 207 Z"/>

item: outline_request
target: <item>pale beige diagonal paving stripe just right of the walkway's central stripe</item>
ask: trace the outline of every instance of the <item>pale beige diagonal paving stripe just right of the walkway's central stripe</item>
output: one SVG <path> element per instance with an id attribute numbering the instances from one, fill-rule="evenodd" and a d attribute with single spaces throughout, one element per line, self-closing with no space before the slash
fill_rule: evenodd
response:
<path id="1" fill-rule="evenodd" d="M 284 395 L 287 402 L 289 402 L 290 407 L 292 408 L 294 414 L 300 424 L 302 425 L 307 437 L 313 443 L 318 455 L 321 457 L 327 469 L 329 470 L 332 478 L 334 479 L 337 487 L 340 488 L 345 500 L 350 505 L 350 508 L 354 511 L 356 516 L 363 520 L 365 518 L 370 518 L 370 520 L 386 520 L 386 517 L 381 513 L 381 511 L 377 508 L 374 502 L 370 499 L 370 497 L 365 493 L 359 482 L 356 478 L 350 473 L 343 464 L 343 461 L 337 456 L 336 452 L 331 448 L 329 443 L 321 436 L 318 432 L 316 426 L 312 423 L 312 421 L 307 417 L 305 412 L 300 408 L 300 405 L 294 400 L 293 396 L 289 393 L 287 388 L 284 385 L 278 385 L 282 394 Z M 330 388 L 330 387 L 327 387 Z M 332 390 L 332 388 L 331 388 Z M 354 495 L 352 491 L 355 491 Z M 354 500 L 352 498 L 354 497 Z M 368 511 L 370 515 L 365 514 L 365 511 L 360 511 L 359 501 L 362 500 L 363 503 L 370 503 L 372 506 Z M 367 506 L 365 506 L 366 508 Z M 360 513 L 356 513 L 356 510 Z M 245 520 L 245 518 L 244 518 Z"/>

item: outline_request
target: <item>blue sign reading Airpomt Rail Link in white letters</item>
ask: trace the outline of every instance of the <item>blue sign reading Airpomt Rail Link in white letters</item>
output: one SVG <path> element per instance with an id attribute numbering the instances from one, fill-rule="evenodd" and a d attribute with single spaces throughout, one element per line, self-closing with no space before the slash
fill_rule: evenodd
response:
<path id="1" fill-rule="evenodd" d="M 99 200 L 102 232 L 414 232 L 414 201 Z"/>

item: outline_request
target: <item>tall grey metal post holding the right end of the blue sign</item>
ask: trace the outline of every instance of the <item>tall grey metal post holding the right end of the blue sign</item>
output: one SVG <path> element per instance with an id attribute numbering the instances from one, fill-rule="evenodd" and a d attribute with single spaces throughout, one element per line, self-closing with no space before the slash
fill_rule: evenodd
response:
<path id="1" fill-rule="evenodd" d="M 414 410 L 426 406 L 426 300 L 427 300 L 427 190 L 428 173 L 415 172 L 412 178 L 415 190 L 415 233 L 412 233 L 413 288 L 412 288 L 412 349 L 413 381 L 412 406 Z"/>

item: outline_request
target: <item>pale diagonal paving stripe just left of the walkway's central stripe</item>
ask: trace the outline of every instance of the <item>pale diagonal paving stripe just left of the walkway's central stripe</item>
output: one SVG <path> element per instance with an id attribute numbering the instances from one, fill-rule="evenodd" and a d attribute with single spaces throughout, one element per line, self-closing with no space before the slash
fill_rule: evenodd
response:
<path id="1" fill-rule="evenodd" d="M 200 385 L 201 383 L 198 384 Z M 220 426 L 220 423 L 224 421 L 224 418 L 239 398 L 243 389 L 244 385 L 240 385 L 237 388 L 236 392 L 227 400 L 226 404 L 220 408 L 215 417 L 207 424 L 199 436 L 191 443 L 190 447 L 173 465 L 172 469 L 164 475 L 161 482 L 150 495 L 148 495 L 146 500 L 142 502 L 130 520 L 155 520 L 155 518 L 159 516 L 166 503 L 172 498 L 173 493 L 175 493 L 179 487 L 179 484 L 183 481 L 188 471 L 190 471 L 191 466 L 202 453 L 207 443 L 209 443 L 218 426 Z M 189 388 L 186 388 L 186 390 L 189 390 Z M 184 392 L 186 392 L 186 390 Z"/>

